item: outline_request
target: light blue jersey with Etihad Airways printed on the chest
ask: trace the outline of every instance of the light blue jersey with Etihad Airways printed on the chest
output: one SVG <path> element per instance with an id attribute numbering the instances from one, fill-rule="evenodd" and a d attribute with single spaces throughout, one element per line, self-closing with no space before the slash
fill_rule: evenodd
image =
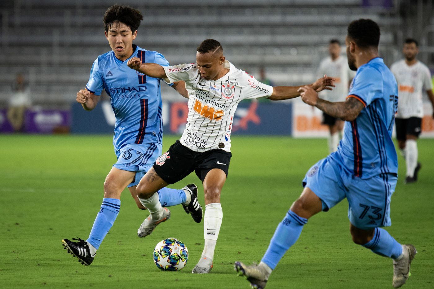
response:
<path id="1" fill-rule="evenodd" d="M 161 145 L 163 121 L 161 115 L 161 79 L 145 76 L 130 69 L 127 62 L 138 57 L 143 63 L 158 63 L 168 66 L 164 56 L 133 45 L 134 53 L 121 61 L 115 53 L 98 56 L 92 66 L 86 89 L 101 95 L 104 89 L 110 96 L 116 116 L 113 145 L 116 155 L 126 144 Z"/>

